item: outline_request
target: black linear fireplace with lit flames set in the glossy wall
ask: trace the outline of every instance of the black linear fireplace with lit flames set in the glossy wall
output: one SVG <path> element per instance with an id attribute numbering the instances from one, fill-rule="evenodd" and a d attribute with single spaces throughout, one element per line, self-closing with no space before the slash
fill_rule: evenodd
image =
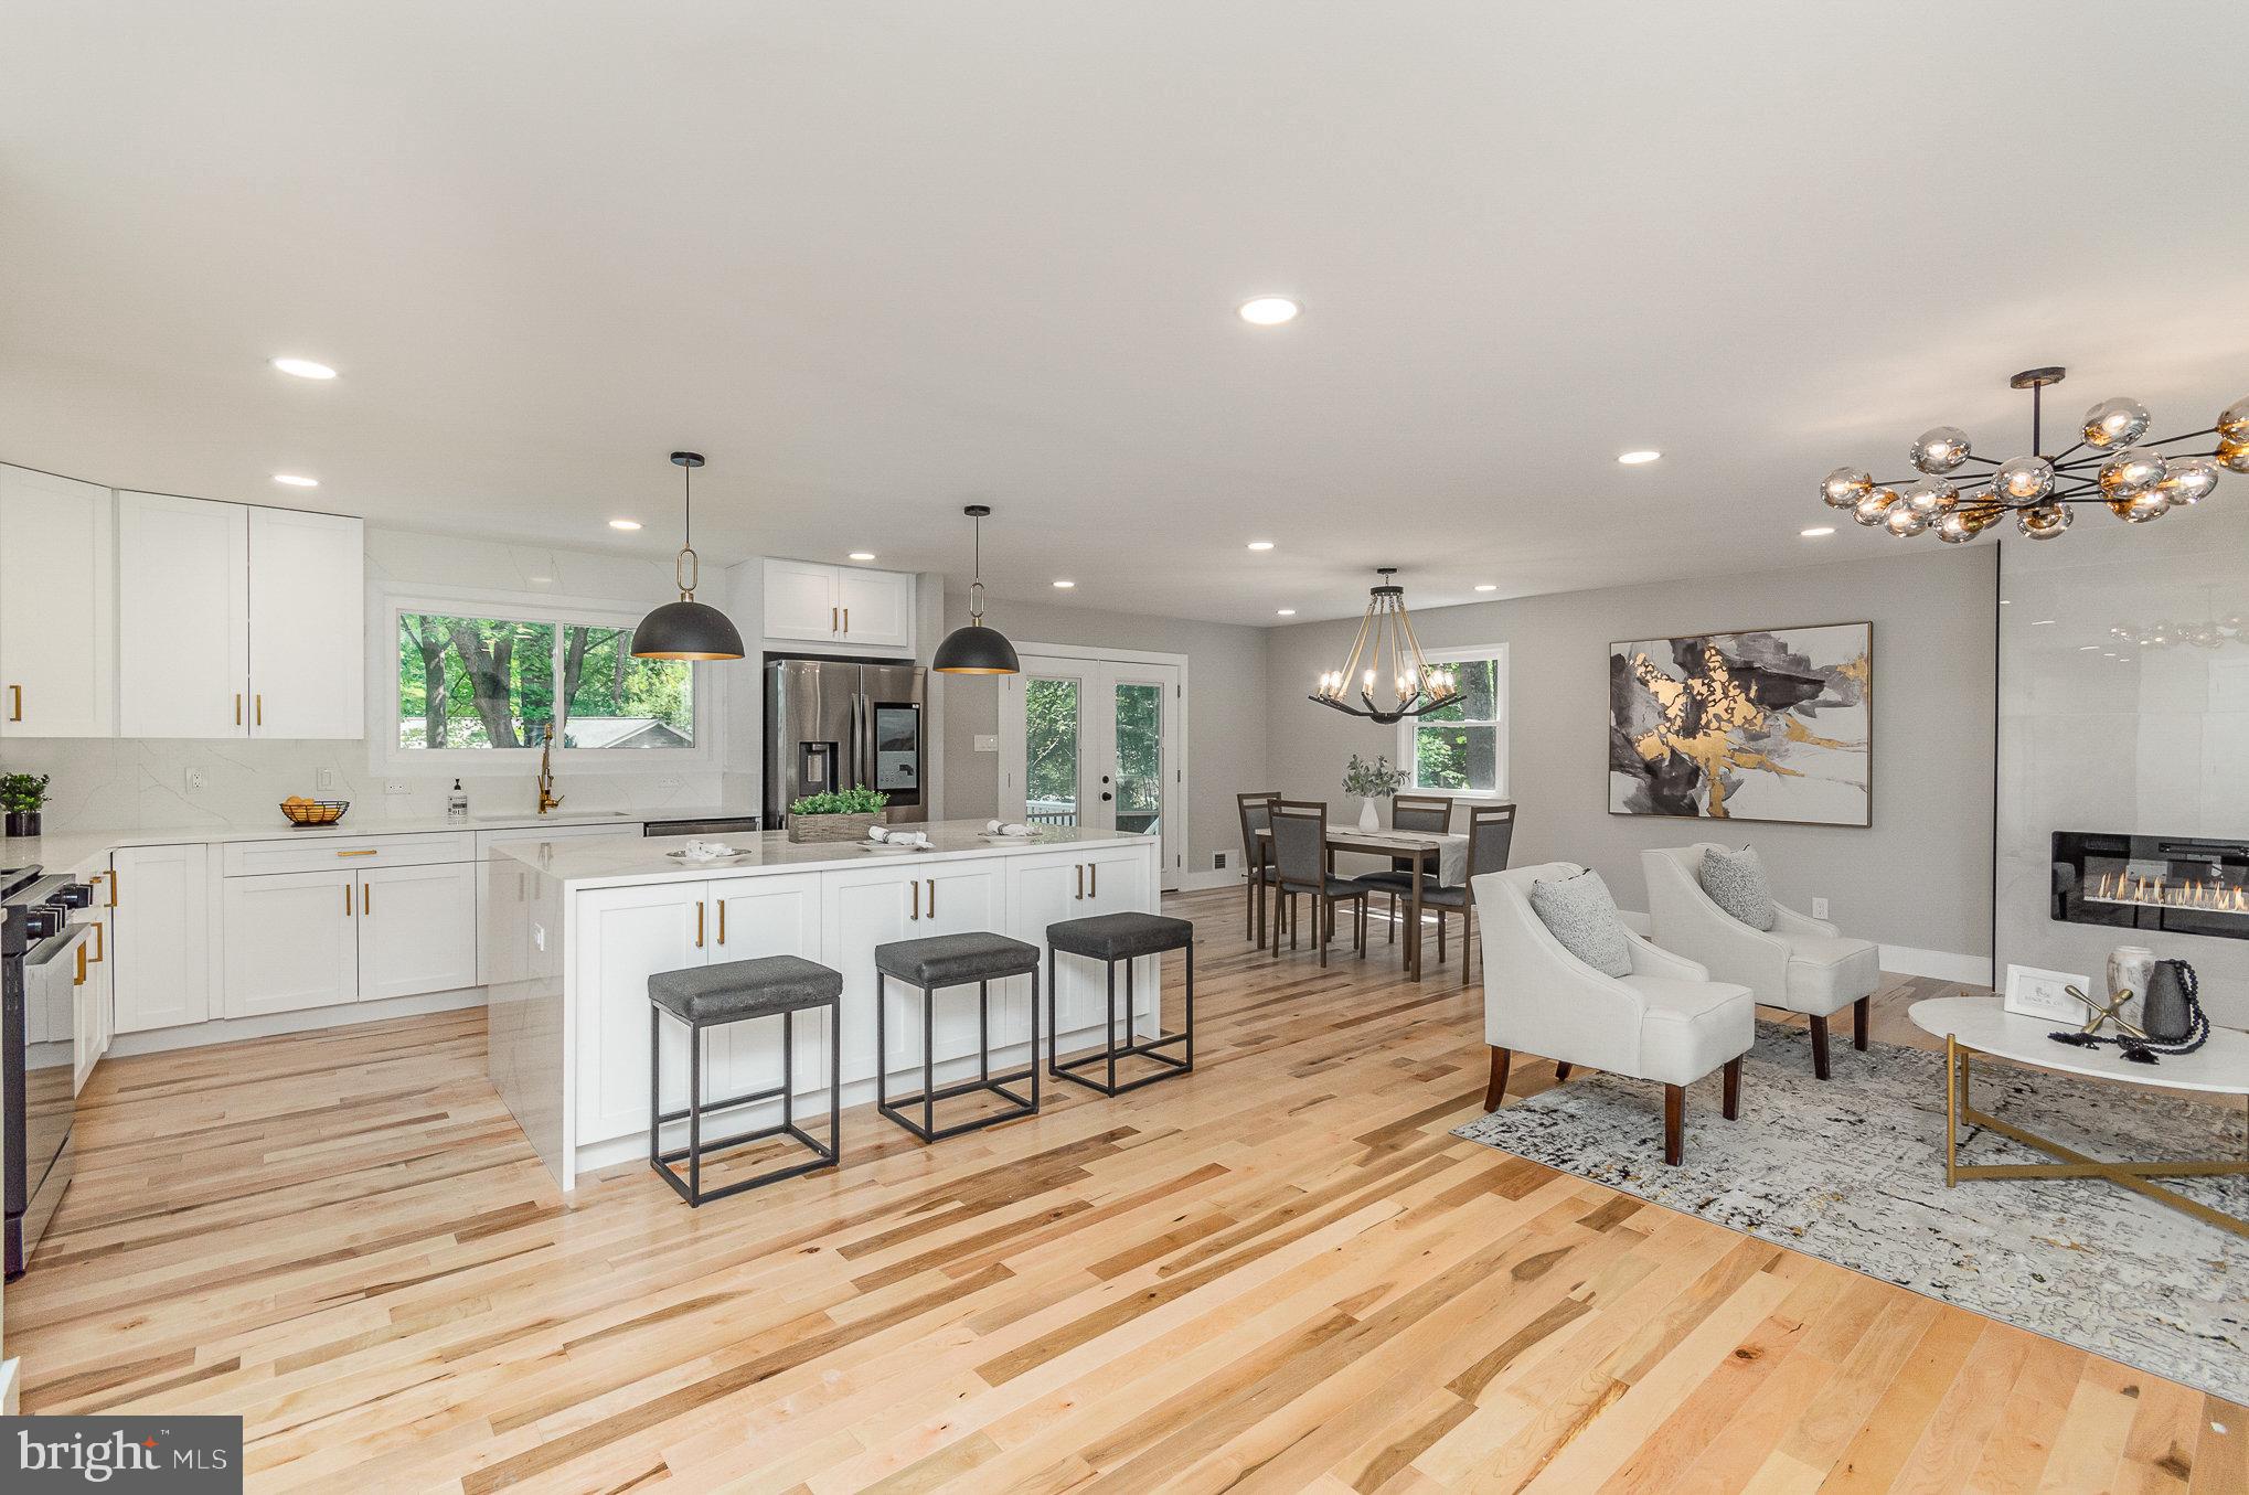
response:
<path id="1" fill-rule="evenodd" d="M 2249 940 L 2249 841 L 2058 830 L 2053 917 Z"/>

